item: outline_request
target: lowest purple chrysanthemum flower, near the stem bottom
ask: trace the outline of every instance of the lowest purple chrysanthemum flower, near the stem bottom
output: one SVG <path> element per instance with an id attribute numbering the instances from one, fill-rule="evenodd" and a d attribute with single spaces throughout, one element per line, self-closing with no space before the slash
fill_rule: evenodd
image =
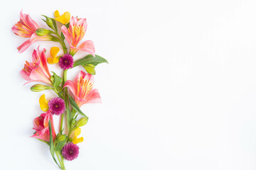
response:
<path id="1" fill-rule="evenodd" d="M 72 161 L 78 157 L 79 147 L 78 145 L 73 144 L 73 142 L 70 142 L 63 147 L 61 153 L 65 159 Z"/>

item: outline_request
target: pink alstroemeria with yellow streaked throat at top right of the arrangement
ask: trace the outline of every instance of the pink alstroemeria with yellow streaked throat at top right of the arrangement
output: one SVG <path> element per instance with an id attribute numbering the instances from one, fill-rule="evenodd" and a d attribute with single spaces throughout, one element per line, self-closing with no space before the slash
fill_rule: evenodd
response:
<path id="1" fill-rule="evenodd" d="M 70 54 L 75 55 L 75 52 L 78 50 L 82 50 L 88 52 L 89 54 L 95 56 L 95 45 L 91 40 L 86 40 L 82 42 L 80 45 L 78 43 L 85 35 L 87 28 L 87 22 L 85 18 L 78 19 L 77 17 L 73 17 L 70 20 L 69 28 L 65 26 L 61 27 L 63 35 L 70 45 Z"/>

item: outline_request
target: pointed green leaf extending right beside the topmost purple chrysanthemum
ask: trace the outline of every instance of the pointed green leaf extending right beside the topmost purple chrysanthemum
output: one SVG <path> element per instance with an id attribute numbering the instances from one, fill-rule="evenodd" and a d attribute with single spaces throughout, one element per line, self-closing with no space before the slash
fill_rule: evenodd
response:
<path id="1" fill-rule="evenodd" d="M 82 59 L 75 61 L 73 64 L 73 67 L 76 67 L 78 65 L 84 65 L 84 64 L 93 64 L 94 66 L 97 66 L 97 64 L 100 64 L 103 62 L 106 62 L 108 64 L 107 60 L 105 60 L 105 58 L 103 57 L 100 57 L 100 55 L 95 55 L 95 57 L 93 57 L 92 55 L 87 55 Z"/>

